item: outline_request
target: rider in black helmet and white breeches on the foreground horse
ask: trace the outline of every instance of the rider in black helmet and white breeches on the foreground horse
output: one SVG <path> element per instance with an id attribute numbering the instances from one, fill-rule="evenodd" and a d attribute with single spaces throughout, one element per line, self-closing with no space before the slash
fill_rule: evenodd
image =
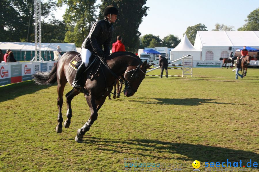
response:
<path id="1" fill-rule="evenodd" d="M 77 82 L 77 80 L 81 77 L 88 66 L 89 58 L 93 53 L 97 54 L 102 59 L 105 59 L 105 56 L 110 54 L 110 43 L 114 30 L 113 23 L 115 23 L 119 12 L 117 8 L 110 5 L 104 9 L 103 14 L 105 16 L 104 19 L 96 21 L 93 24 L 87 38 L 85 38 L 82 44 L 82 63 L 78 67 L 75 79 L 72 83 L 72 87 L 74 88 L 81 89 L 81 87 L 83 87 L 80 82 Z M 104 50 L 102 50 L 102 45 Z"/>

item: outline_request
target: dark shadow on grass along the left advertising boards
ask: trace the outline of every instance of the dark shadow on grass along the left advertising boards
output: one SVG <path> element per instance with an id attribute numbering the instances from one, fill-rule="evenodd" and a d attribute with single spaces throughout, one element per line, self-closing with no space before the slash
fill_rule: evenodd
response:
<path id="1" fill-rule="evenodd" d="M 55 83 L 54 85 L 57 85 L 57 83 Z M 0 93 L 1 93 L 0 102 L 11 100 L 26 94 L 44 93 L 44 91 L 39 91 L 39 90 L 45 89 L 51 86 L 53 85 L 37 85 L 34 83 L 34 81 L 26 81 L 26 82 L 20 82 L 20 83 L 15 83 L 4 87 L 0 87 Z"/>

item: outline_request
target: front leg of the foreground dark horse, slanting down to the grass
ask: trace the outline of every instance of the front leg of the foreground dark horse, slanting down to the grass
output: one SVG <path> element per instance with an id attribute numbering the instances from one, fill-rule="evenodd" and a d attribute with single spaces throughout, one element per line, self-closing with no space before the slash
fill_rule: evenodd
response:
<path id="1" fill-rule="evenodd" d="M 77 136 L 75 137 L 75 141 L 78 142 L 78 143 L 83 142 L 83 136 L 85 135 L 85 133 L 87 131 L 90 130 L 90 127 L 92 126 L 94 121 L 97 120 L 98 110 L 103 105 L 103 103 L 105 101 L 105 97 L 102 98 L 100 101 L 95 101 L 95 99 L 92 97 L 92 95 L 89 95 L 88 97 L 86 97 L 86 101 L 87 101 L 87 104 L 90 107 L 91 116 L 88 119 L 88 121 L 85 123 L 85 125 L 83 125 L 81 128 L 79 128 L 77 130 Z M 97 107 L 96 107 L 96 105 L 97 105 Z"/>

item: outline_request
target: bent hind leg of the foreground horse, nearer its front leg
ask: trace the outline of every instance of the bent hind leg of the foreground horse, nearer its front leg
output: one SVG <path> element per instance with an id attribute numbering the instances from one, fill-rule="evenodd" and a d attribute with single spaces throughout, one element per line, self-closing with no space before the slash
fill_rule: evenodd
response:
<path id="1" fill-rule="evenodd" d="M 67 107 L 67 112 L 66 112 L 66 120 L 64 122 L 64 127 L 69 128 L 70 123 L 71 123 L 71 118 L 72 118 L 72 109 L 71 109 L 71 101 L 72 99 L 78 95 L 80 92 L 77 91 L 76 89 L 72 89 L 68 93 L 66 93 L 66 107 Z"/>

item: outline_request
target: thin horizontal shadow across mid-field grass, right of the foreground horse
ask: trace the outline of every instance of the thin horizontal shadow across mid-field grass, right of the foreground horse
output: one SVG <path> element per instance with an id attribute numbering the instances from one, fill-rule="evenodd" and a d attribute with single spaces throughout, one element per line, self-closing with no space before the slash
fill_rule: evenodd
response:
<path id="1" fill-rule="evenodd" d="M 215 104 L 229 104 L 236 105 L 236 103 L 223 103 L 216 102 L 215 99 L 198 99 L 198 98 L 184 98 L 184 99 L 169 99 L 169 98 L 153 98 L 156 101 L 144 101 L 144 100 L 121 100 L 121 101 L 136 101 L 139 103 L 146 104 L 166 104 L 166 105 L 186 105 L 186 106 L 197 106 L 203 103 L 215 103 Z M 239 104 L 240 105 L 240 104 Z M 245 105 L 245 104 L 243 104 Z"/>

